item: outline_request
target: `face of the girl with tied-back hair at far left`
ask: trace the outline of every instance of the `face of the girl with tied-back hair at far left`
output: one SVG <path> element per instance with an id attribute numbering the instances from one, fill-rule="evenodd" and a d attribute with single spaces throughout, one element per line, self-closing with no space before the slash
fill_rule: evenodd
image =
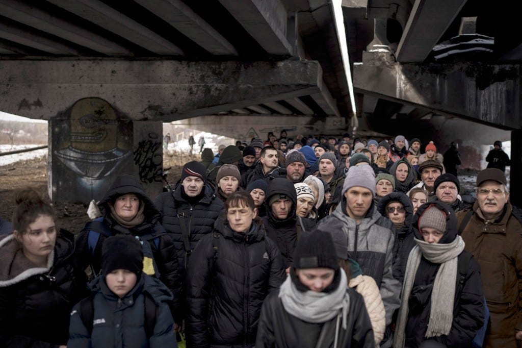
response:
<path id="1" fill-rule="evenodd" d="M 56 243 L 56 226 L 52 216 L 39 215 L 29 224 L 24 234 L 15 231 L 16 238 L 21 242 L 23 253 L 29 260 L 46 260 Z"/>

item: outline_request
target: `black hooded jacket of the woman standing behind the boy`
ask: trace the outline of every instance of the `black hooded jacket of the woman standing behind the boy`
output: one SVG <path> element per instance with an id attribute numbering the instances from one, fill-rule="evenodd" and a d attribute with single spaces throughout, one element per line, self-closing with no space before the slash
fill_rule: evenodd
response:
<path id="1" fill-rule="evenodd" d="M 126 228 L 118 224 L 111 216 L 109 207 L 109 203 L 114 202 L 118 196 L 127 193 L 136 194 L 145 205 L 143 211 L 145 219 L 143 223 L 133 228 Z M 174 243 L 160 225 L 160 213 L 148 198 L 138 179 L 131 175 L 118 177 L 104 198 L 98 203 L 98 207 L 102 213 L 102 218 L 88 222 L 84 229 L 80 231 L 76 240 L 76 257 L 81 268 L 85 269 L 87 266 L 90 266 L 95 274 L 99 274 L 101 270 L 101 249 L 103 241 L 111 235 L 131 234 L 138 236 L 141 241 L 148 240 L 153 260 L 158 268 L 159 279 L 167 285 L 174 295 L 174 301 L 171 304 L 172 316 L 176 323 L 181 323 L 182 280 Z M 93 251 L 89 250 L 89 231 L 91 230 L 100 234 Z M 145 248 L 144 252 L 146 252 Z"/>

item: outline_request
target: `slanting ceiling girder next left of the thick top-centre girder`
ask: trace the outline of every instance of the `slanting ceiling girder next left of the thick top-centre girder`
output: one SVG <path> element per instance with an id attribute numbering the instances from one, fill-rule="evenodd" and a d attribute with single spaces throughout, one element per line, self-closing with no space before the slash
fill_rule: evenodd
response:
<path id="1" fill-rule="evenodd" d="M 216 55 L 238 55 L 233 45 L 181 0 L 134 0 Z"/>

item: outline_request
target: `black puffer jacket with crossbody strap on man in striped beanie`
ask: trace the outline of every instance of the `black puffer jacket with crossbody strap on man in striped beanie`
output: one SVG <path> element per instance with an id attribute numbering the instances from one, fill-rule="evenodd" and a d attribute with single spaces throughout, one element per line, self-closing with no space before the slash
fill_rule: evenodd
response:
<path id="1" fill-rule="evenodd" d="M 160 193 L 154 204 L 161 213 L 161 224 L 174 241 L 180 272 L 184 274 L 185 246 L 180 225 L 181 218 L 177 217 L 178 211 L 183 214 L 182 218 L 185 223 L 190 248 L 194 250 L 199 238 L 212 231 L 224 204 L 207 185 L 204 187 L 203 197 L 195 204 L 185 200 L 182 190 L 183 186 L 178 185 L 173 192 Z"/>

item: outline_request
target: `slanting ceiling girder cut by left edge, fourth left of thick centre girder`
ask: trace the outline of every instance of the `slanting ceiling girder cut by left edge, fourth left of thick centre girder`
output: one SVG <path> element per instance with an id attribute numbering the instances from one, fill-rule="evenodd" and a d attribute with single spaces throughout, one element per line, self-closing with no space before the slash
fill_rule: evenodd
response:
<path id="1" fill-rule="evenodd" d="M 27 30 L 10 27 L 3 23 L 0 23 L 0 38 L 52 54 L 79 55 L 78 51 L 72 47 L 68 47 L 56 40 L 44 38 Z"/>

